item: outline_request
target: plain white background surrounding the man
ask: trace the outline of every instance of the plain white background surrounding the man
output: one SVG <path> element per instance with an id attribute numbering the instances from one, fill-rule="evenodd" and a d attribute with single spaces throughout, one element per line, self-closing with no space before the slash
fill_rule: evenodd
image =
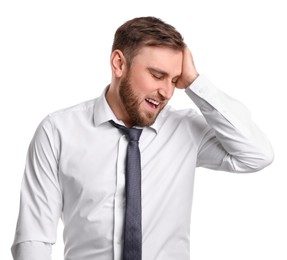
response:
<path id="1" fill-rule="evenodd" d="M 257 173 L 198 169 L 191 259 L 287 259 L 283 0 L 1 1 L 0 259 L 12 259 L 26 151 L 37 125 L 102 92 L 114 31 L 146 15 L 183 34 L 199 72 L 247 105 L 275 150 L 274 163 Z M 193 106 L 182 91 L 171 103 Z M 63 259 L 61 228 L 54 260 Z"/>

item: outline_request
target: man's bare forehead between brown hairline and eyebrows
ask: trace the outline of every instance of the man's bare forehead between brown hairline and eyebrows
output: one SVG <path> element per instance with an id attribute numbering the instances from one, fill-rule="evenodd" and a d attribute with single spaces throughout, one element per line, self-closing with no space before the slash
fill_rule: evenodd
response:
<path id="1" fill-rule="evenodd" d="M 179 75 L 182 69 L 183 53 L 168 47 L 143 47 L 133 58 L 132 66 L 155 68 L 169 74 Z"/>

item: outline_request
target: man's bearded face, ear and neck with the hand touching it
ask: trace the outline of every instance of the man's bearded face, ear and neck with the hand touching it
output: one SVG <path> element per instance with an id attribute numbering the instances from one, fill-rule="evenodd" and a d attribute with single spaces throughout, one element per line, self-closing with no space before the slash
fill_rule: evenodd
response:
<path id="1" fill-rule="evenodd" d="M 172 97 L 175 88 L 187 88 L 197 77 L 186 47 L 143 47 L 131 66 L 120 50 L 111 54 L 112 81 L 106 99 L 117 119 L 127 127 L 149 126 Z"/>

